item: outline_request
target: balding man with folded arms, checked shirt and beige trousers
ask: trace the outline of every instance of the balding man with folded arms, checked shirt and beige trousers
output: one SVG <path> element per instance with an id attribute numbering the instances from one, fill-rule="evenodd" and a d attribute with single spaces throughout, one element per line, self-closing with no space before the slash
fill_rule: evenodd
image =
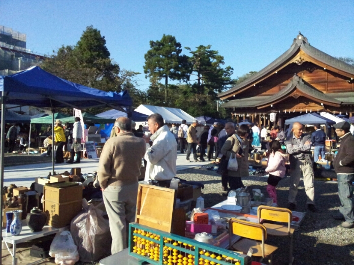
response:
<path id="1" fill-rule="evenodd" d="M 303 125 L 294 122 L 292 134 L 286 140 L 287 152 L 290 154 L 290 187 L 289 187 L 289 209 L 296 210 L 296 195 L 301 176 L 304 178 L 304 186 L 307 196 L 307 209 L 316 211 L 314 206 L 314 176 L 313 157 L 311 154 L 311 136 L 303 134 Z"/>

